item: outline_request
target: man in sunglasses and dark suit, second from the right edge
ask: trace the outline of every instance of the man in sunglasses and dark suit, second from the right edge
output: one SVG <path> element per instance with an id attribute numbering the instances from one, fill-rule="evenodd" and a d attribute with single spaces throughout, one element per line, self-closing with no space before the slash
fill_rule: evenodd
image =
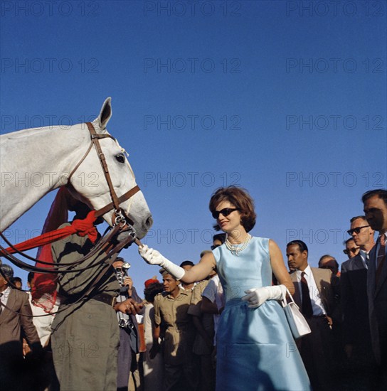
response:
<path id="1" fill-rule="evenodd" d="M 347 232 L 360 249 L 358 255 L 341 264 L 342 336 L 348 368 L 352 370 L 348 379 L 356 387 L 371 390 L 375 362 L 369 327 L 367 269 L 369 252 L 375 245 L 374 231 L 365 216 L 355 216 Z"/>

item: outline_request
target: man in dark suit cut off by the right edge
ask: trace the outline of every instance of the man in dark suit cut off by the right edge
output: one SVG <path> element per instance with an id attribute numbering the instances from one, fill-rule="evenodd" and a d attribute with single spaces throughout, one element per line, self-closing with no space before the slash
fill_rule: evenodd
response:
<path id="1" fill-rule="evenodd" d="M 387 389 L 387 190 L 377 189 L 364 193 L 366 219 L 379 232 L 376 245 L 369 255 L 367 292 L 371 343 L 378 364 L 378 389 Z"/>

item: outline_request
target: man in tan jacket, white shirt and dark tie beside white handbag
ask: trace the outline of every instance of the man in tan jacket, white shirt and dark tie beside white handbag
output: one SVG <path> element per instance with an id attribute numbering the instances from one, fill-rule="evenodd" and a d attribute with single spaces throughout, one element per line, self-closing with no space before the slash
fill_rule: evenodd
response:
<path id="1" fill-rule="evenodd" d="M 332 390 L 332 314 L 339 279 L 329 269 L 309 266 L 308 248 L 302 240 L 287 243 L 286 255 L 290 267 L 296 269 L 290 274 L 295 285 L 295 302 L 312 330 L 299 341 L 299 353 L 313 390 Z"/>

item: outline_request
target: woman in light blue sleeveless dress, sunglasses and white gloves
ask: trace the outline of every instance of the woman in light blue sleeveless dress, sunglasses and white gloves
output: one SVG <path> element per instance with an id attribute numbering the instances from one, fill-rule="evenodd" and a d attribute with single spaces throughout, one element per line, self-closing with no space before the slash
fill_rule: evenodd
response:
<path id="1" fill-rule="evenodd" d="M 311 390 L 277 301 L 286 287 L 294 292 L 281 251 L 272 240 L 248 234 L 255 225 L 252 198 L 235 186 L 220 188 L 209 208 L 216 229 L 226 232 L 227 240 L 189 271 L 147 246 L 139 247 L 140 255 L 184 282 L 199 281 L 218 270 L 226 306 L 218 325 L 216 390 Z M 280 285 L 272 286 L 272 273 Z"/>

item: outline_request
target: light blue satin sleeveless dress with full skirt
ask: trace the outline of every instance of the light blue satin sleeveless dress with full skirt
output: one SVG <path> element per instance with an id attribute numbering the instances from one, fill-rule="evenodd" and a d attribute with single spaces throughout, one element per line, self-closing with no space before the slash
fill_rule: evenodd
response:
<path id="1" fill-rule="evenodd" d="M 217 331 L 216 390 L 307 391 L 307 372 L 281 304 L 249 308 L 245 290 L 270 286 L 269 239 L 252 237 L 238 256 L 226 245 L 213 250 L 226 306 Z"/>

